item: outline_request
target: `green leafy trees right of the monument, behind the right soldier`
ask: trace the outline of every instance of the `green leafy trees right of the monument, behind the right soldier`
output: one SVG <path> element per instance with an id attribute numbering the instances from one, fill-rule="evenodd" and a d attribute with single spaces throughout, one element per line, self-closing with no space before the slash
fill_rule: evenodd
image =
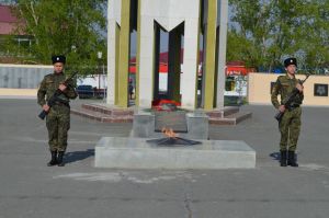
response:
<path id="1" fill-rule="evenodd" d="M 329 2 L 321 0 L 230 0 L 228 60 L 271 71 L 287 56 L 303 68 L 328 65 Z M 235 55 L 231 55 L 234 53 Z"/>

